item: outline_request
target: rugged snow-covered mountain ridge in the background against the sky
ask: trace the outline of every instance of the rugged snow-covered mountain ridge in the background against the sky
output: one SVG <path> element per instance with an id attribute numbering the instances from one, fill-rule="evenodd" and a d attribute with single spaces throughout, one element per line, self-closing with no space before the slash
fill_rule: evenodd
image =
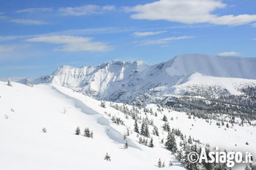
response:
<path id="1" fill-rule="evenodd" d="M 224 90 L 230 90 L 232 87 L 230 93 L 233 94 L 236 88 L 233 87 L 234 84 L 240 84 L 240 88 L 247 87 L 247 82 L 249 85 L 255 85 L 255 72 L 256 58 L 192 54 L 178 55 L 170 61 L 154 66 L 147 66 L 142 61 L 112 61 L 100 66 L 80 68 L 61 66 L 50 76 L 40 77 L 34 82 L 62 85 L 98 100 L 132 103 L 137 102 L 138 98 L 143 102 L 145 98 L 150 98 L 150 102 L 155 102 L 161 101 L 163 96 L 184 94 L 187 88 L 181 90 L 181 87 L 187 86 L 181 84 L 187 81 L 200 84 L 198 80 L 202 83 L 212 80 L 210 82 L 218 82 Z M 206 80 L 199 75 L 203 75 Z M 225 81 L 222 82 L 218 77 L 225 77 Z M 227 84 L 230 84 L 228 88 Z M 238 93 L 240 92 L 236 89 L 236 94 Z M 150 97 L 147 97 L 148 95 Z"/>

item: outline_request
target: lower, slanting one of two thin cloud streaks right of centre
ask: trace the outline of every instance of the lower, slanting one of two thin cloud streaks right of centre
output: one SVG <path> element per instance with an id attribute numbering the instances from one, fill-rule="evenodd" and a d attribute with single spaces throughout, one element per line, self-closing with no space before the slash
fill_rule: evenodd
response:
<path id="1" fill-rule="evenodd" d="M 140 41 L 140 45 L 166 45 L 171 41 L 180 40 L 180 39 L 192 39 L 195 36 L 172 36 L 164 39 L 146 39 Z"/>

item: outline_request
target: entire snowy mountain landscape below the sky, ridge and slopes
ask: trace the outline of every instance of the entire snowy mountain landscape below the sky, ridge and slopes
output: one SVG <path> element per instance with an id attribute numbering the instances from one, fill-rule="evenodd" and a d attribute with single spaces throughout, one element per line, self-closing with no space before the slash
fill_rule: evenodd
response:
<path id="1" fill-rule="evenodd" d="M 0 82 L 0 169 L 194 170 L 201 147 L 255 153 L 255 61 L 180 55 Z"/>

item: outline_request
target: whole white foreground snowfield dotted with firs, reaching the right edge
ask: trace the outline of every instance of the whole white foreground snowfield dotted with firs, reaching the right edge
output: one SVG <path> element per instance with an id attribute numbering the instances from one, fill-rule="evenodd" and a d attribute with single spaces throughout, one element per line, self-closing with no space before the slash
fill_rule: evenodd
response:
<path id="1" fill-rule="evenodd" d="M 167 137 L 167 132 L 162 130 L 163 115 L 167 116 L 170 128 L 178 128 L 184 135 L 199 139 L 202 146 L 210 144 L 222 150 L 256 153 L 256 129 L 247 123 L 244 126 L 234 123 L 225 128 L 216 125 L 216 120 L 208 123 L 197 117 L 191 119 L 184 112 L 149 104 L 147 108 L 157 112 L 157 116 L 138 108 L 138 115 L 148 117 L 159 129 L 156 136 L 149 125 L 154 147 L 148 147 L 138 143 L 141 135 L 133 131 L 135 121 L 131 116 L 110 107 L 110 103 L 103 108 L 100 101 L 68 88 L 50 84 L 31 88 L 15 82 L 10 87 L 7 82 L 0 82 L 0 96 L 0 165 L 4 170 L 150 170 L 159 169 L 159 158 L 165 161 L 162 169 L 184 169 L 161 143 Z M 121 118 L 124 125 L 113 123 L 113 116 Z M 140 127 L 140 121 L 138 125 Z M 75 135 L 78 126 L 79 136 Z M 47 132 L 43 133 L 42 128 Z M 84 128 L 93 131 L 93 139 L 82 135 Z M 129 136 L 124 140 L 127 129 Z M 126 140 L 129 147 L 124 149 Z M 181 142 L 177 136 L 176 142 L 177 146 Z M 111 161 L 104 160 L 106 152 Z M 169 161 L 174 165 L 168 166 Z M 244 169 L 244 166 L 241 164 L 235 169 Z"/>

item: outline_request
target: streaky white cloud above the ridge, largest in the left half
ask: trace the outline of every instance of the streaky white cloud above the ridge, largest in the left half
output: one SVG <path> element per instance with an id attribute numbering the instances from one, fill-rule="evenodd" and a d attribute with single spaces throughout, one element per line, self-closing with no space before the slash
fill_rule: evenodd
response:
<path id="1" fill-rule="evenodd" d="M 61 45 L 57 51 L 97 51 L 103 52 L 111 50 L 111 47 L 105 42 L 91 42 L 91 37 L 85 36 L 39 36 L 26 39 L 27 42 L 48 42 L 51 44 Z"/>

